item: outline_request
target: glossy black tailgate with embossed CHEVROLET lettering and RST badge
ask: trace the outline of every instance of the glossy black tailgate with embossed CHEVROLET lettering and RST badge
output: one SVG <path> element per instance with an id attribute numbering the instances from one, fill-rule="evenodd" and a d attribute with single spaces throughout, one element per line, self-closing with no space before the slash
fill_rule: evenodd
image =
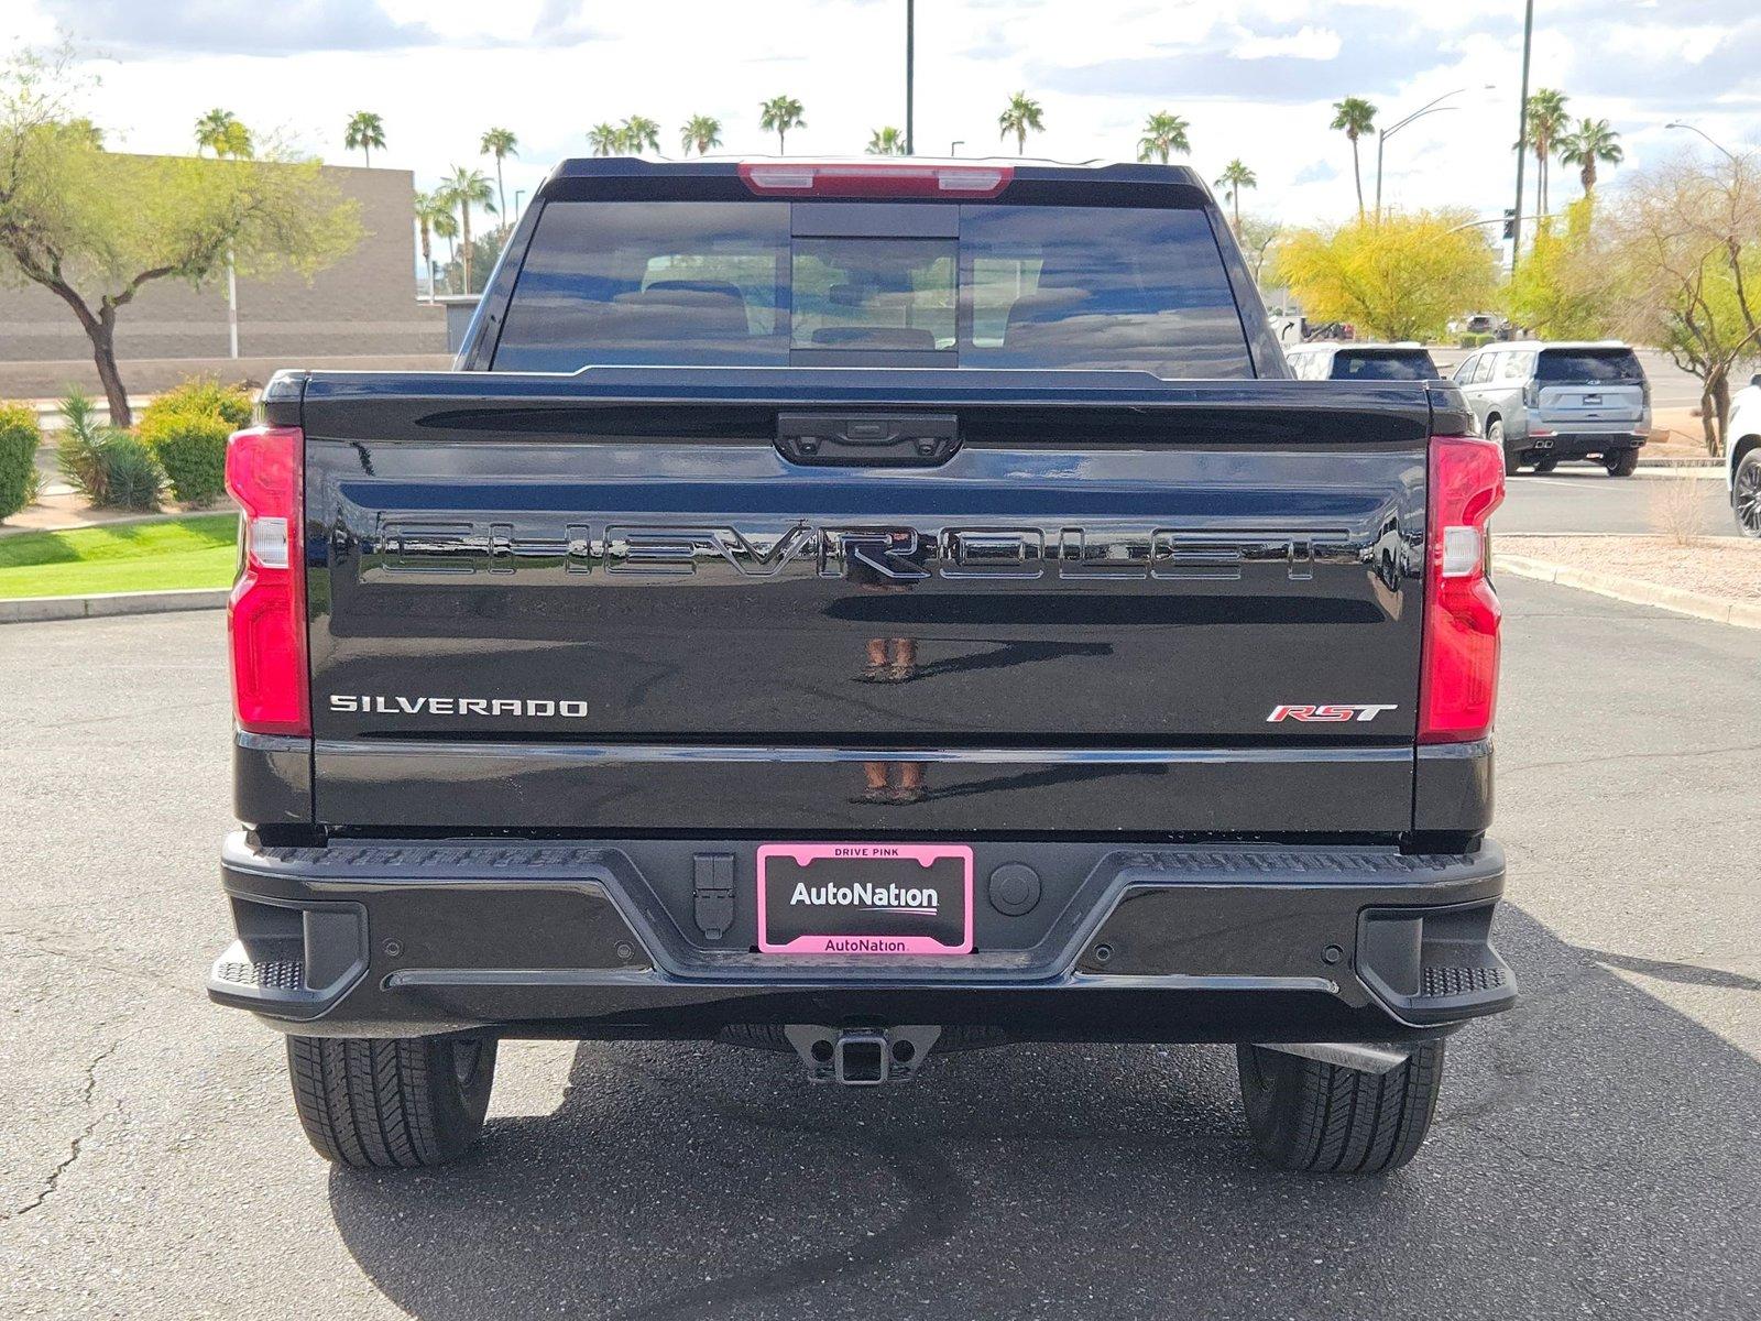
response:
<path id="1" fill-rule="evenodd" d="M 755 375 L 306 382 L 322 823 L 1409 828 L 1423 384 Z M 803 410 L 958 449 L 791 461 Z"/>

